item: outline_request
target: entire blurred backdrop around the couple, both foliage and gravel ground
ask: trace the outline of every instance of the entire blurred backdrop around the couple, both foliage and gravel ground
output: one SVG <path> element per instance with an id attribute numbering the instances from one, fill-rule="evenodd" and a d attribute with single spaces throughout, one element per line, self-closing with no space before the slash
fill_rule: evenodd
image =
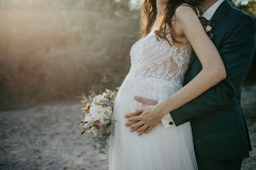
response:
<path id="1" fill-rule="evenodd" d="M 103 72 L 110 89 L 123 82 L 140 39 L 139 2 L 0 0 L 0 169 L 107 169 L 106 157 L 81 149 L 76 97 L 98 91 Z M 255 0 L 229 2 L 256 19 Z M 255 73 L 256 57 L 242 100 L 254 148 Z M 255 160 L 251 152 L 244 169 Z"/>

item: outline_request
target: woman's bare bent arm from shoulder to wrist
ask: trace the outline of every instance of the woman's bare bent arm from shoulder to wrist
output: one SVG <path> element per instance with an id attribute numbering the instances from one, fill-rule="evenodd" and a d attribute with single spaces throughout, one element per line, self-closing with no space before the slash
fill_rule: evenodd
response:
<path id="1" fill-rule="evenodd" d="M 161 105 L 163 113 L 171 112 L 195 97 L 199 97 L 227 76 L 220 53 L 202 28 L 192 8 L 179 6 L 175 12 L 175 19 L 198 56 L 202 70 L 185 87 L 158 104 Z"/>

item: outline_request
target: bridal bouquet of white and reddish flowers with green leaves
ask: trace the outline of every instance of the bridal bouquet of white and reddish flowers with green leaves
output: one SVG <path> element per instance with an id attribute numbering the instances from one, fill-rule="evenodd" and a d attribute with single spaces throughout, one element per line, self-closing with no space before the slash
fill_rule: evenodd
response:
<path id="1" fill-rule="evenodd" d="M 84 118 L 81 116 L 82 121 L 79 128 L 82 128 L 81 134 L 93 135 L 92 147 L 98 148 L 99 154 L 105 155 L 103 149 L 106 149 L 106 140 L 109 138 L 111 131 L 112 113 L 117 92 L 108 89 L 99 92 L 97 95 L 90 91 L 88 99 L 85 96 L 78 97 L 81 99 L 81 103 L 85 104 L 85 107 L 81 108 Z"/>

